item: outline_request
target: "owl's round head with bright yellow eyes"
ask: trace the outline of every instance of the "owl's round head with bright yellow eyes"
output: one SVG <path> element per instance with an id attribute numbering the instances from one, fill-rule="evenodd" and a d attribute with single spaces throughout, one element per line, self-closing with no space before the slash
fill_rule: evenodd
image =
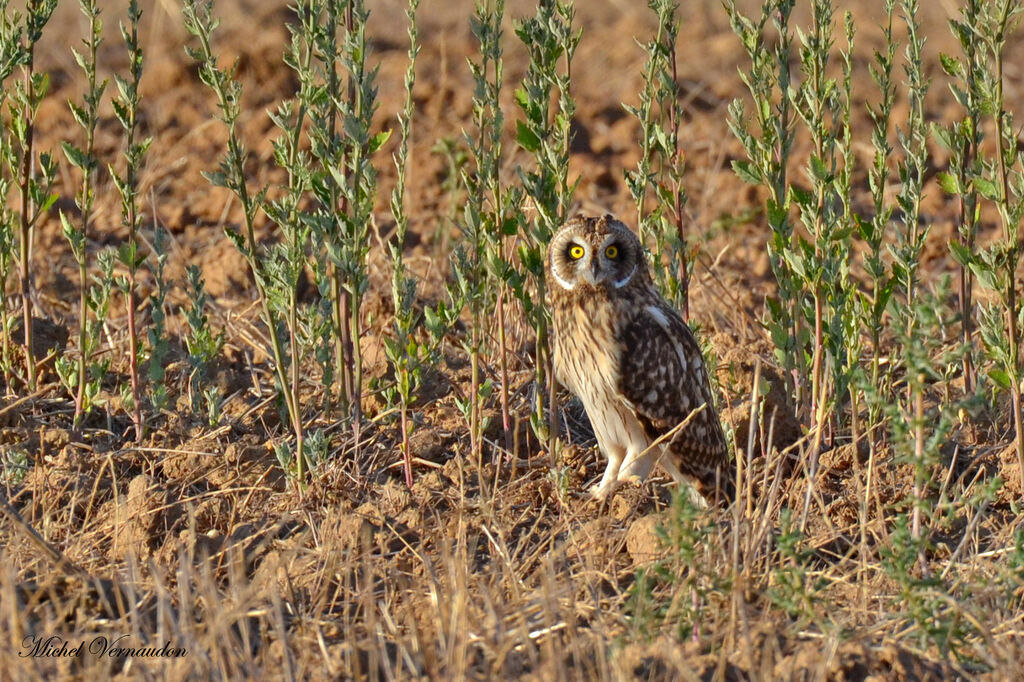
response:
<path id="1" fill-rule="evenodd" d="M 610 215 L 572 218 L 548 244 L 549 288 L 614 291 L 646 276 L 640 240 Z"/>

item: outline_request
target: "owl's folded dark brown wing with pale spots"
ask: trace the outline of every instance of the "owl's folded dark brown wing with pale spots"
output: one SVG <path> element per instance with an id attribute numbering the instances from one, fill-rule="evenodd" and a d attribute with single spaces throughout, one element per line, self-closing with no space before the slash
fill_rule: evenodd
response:
<path id="1" fill-rule="evenodd" d="M 618 341 L 620 390 L 648 437 L 665 435 L 707 404 L 667 442 L 683 473 L 710 488 L 717 484 L 731 499 L 733 473 L 725 434 L 690 328 L 668 305 L 649 304 L 620 330 Z"/>

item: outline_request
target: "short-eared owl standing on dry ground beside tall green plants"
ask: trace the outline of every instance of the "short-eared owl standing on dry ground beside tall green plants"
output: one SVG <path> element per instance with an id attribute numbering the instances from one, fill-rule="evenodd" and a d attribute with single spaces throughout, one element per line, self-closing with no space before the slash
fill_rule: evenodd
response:
<path id="1" fill-rule="evenodd" d="M 640 240 L 610 215 L 573 218 L 548 246 L 547 279 L 555 373 L 583 400 L 608 458 L 594 497 L 644 480 L 656 461 L 705 496 L 717 487 L 731 497 L 700 349 L 654 288 Z"/>

